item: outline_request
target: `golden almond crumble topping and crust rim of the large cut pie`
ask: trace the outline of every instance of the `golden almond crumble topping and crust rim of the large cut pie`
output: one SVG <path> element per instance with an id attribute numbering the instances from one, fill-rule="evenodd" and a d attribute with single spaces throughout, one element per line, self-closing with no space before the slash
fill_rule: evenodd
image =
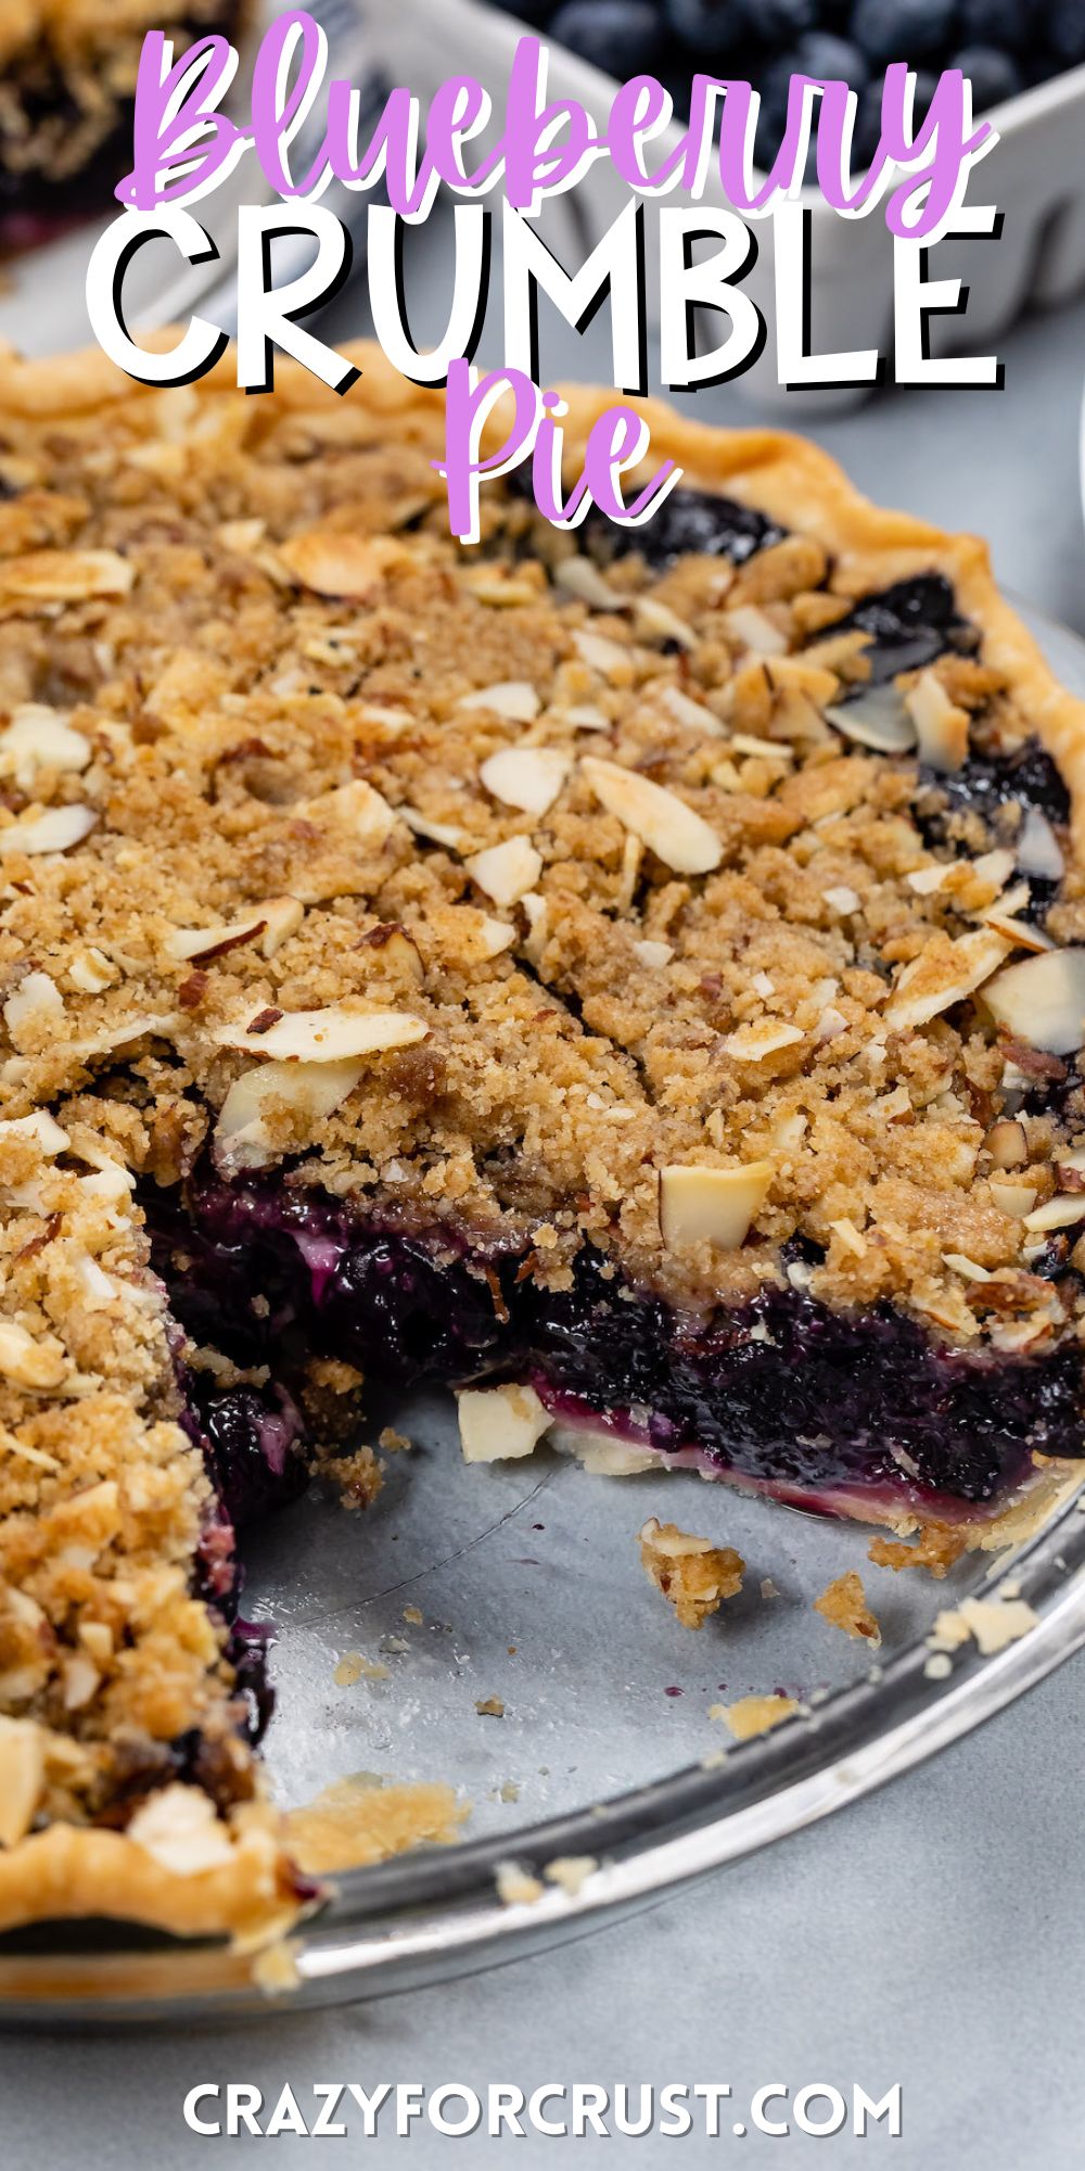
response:
<path id="1" fill-rule="evenodd" d="M 911 782 L 842 753 L 818 708 L 864 675 L 861 640 L 833 638 L 848 599 L 946 573 L 983 647 L 931 666 L 937 684 L 1009 740 L 1039 736 L 1081 853 L 1085 710 L 985 547 L 877 510 L 801 439 L 647 402 L 649 465 L 675 458 L 786 538 L 742 567 L 621 558 L 588 599 L 562 586 L 575 538 L 523 502 L 484 491 L 482 545 L 449 538 L 441 395 L 375 347 L 354 360 L 345 399 L 293 365 L 245 399 L 230 358 L 156 393 L 98 352 L 0 352 L 2 1928 L 93 1913 L 252 1937 L 299 1904 L 234 1730 L 226 1630 L 193 1596 L 213 1500 L 135 1177 L 176 1183 L 210 1140 L 228 1170 L 302 1153 L 302 1185 L 529 1237 L 553 1287 L 588 1235 L 692 1307 L 749 1296 L 803 1227 L 829 1303 L 888 1296 L 998 1346 L 953 1246 L 1011 1290 L 1016 1346 L 1052 1333 L 961 1099 L 992 1101 L 1003 1057 L 944 1016 L 885 1055 L 885 986 L 857 962 L 855 925 L 894 968 L 937 964 L 990 899 L 972 873 L 959 905 L 907 886 L 933 864 Z M 564 397 L 575 460 L 614 393 Z M 614 812 L 614 766 L 660 788 L 651 818 Z M 688 855 L 690 814 L 723 842 L 703 873 L 666 858 Z M 1059 936 L 1081 938 L 1076 866 L 1061 894 Z M 306 1103 L 299 1068 L 332 1068 L 319 1046 L 297 1066 L 315 1016 L 304 1031 L 349 1053 L 343 1094 Z M 360 1053 L 362 1018 L 393 1038 Z M 755 1053 L 781 1018 L 803 1049 Z M 263 1033 L 286 1033 L 284 1083 L 230 1127 L 239 1081 L 267 1079 L 254 1055 L 276 1062 Z M 879 1103 L 901 1092 L 885 1146 Z M 1048 1133 L 1035 1153 L 1050 1196 Z M 664 1240 L 664 1168 L 751 1159 L 788 1166 L 755 1203 L 762 1246 Z M 944 1548 L 1016 1544 L 1074 1485 L 1050 1465 Z M 872 1520 L 924 1522 L 907 1500 Z M 935 1526 L 924 1541 L 935 1559 Z M 176 1830 L 141 1839 L 154 1756 L 187 1728 L 213 1830 L 197 1780 Z"/>

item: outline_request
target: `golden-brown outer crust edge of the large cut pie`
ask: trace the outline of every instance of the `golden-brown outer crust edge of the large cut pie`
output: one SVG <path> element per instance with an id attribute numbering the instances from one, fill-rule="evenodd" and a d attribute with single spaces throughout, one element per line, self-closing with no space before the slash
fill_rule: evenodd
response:
<path id="1" fill-rule="evenodd" d="M 154 341 L 163 347 L 169 343 L 169 337 Z M 410 426 L 421 415 L 432 428 L 441 393 L 406 382 L 373 345 L 352 352 L 362 369 L 352 397 L 386 419 L 388 430 Z M 206 382 L 224 389 L 230 380 L 232 356 L 226 356 Z M 35 365 L 0 350 L 0 410 L 13 419 L 87 415 L 117 397 L 141 397 L 141 391 L 98 350 Z M 304 410 L 332 395 L 308 371 L 278 363 L 271 397 L 280 408 Z M 569 386 L 562 397 L 569 406 L 566 449 L 575 458 L 592 421 L 616 395 L 608 389 Z M 770 430 L 712 430 L 651 399 L 638 402 L 638 408 L 651 430 L 651 465 L 673 458 L 688 484 L 727 488 L 740 504 L 822 541 L 855 595 L 924 571 L 931 562 L 946 571 L 963 614 L 983 630 L 985 653 L 1005 671 L 1029 708 L 1039 740 L 1059 764 L 1072 792 L 1074 842 L 1085 851 L 1083 708 L 1057 684 L 1031 634 L 998 595 L 981 541 L 946 536 L 918 519 L 868 504 L 835 462 L 803 439 Z M 497 428 L 495 423 L 493 430 Z M 1072 1498 L 1078 1483 L 1081 1465 L 1048 1463 L 998 1515 L 955 1524 L 955 1537 L 985 1552 L 1022 1546 Z M 937 1537 L 940 1528 L 924 1526 L 909 1505 L 872 1505 L 868 1520 L 898 1537 L 914 1537 L 916 1531 Z M 0 1930 L 65 1917 L 115 1917 L 178 1937 L 267 1941 L 306 1904 L 297 1895 L 282 1819 L 258 1798 L 234 1813 L 230 1837 L 228 1863 L 180 1876 L 124 1832 L 72 1824 L 30 1832 L 0 1850 Z"/>

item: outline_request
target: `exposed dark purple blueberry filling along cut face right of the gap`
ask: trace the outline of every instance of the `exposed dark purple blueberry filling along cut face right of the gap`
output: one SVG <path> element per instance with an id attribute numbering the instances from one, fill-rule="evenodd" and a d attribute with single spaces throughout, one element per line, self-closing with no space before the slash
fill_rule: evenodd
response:
<path id="1" fill-rule="evenodd" d="M 775 1489 L 911 1485 L 985 1502 L 1033 1448 L 1085 1452 L 1076 1348 L 966 1355 L 890 1307 L 838 1313 L 796 1287 L 679 1313 L 623 1294 L 590 1246 L 571 1290 L 549 1292 L 519 1279 L 523 1253 L 475 1259 L 447 1233 L 360 1222 L 282 1183 L 208 1175 L 189 1211 L 204 1296 L 217 1287 L 226 1322 L 260 1290 L 286 1340 L 397 1385 L 532 1379 L 558 1413 L 608 1418 L 660 1455 L 697 1450 Z"/>

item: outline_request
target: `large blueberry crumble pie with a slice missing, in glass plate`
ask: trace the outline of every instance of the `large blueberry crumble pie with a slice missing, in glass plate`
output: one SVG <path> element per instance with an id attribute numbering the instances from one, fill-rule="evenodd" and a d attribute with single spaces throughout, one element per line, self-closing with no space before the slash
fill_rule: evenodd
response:
<path id="1" fill-rule="evenodd" d="M 362 1374 L 935 1570 L 1083 1452 L 1085 712 L 983 547 L 658 406 L 651 525 L 462 549 L 358 360 L 0 356 L 0 1926 L 304 1904 L 237 1533 Z"/>

